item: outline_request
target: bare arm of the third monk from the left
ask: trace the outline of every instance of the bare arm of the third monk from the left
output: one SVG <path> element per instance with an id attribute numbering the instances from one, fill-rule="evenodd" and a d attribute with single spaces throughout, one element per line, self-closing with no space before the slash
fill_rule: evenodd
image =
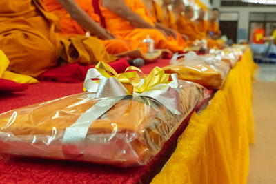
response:
<path id="1" fill-rule="evenodd" d="M 112 12 L 119 17 L 126 19 L 135 28 L 149 28 L 154 29 L 150 23 L 147 23 L 142 19 L 139 14 L 133 12 L 125 3 L 124 0 L 103 0 L 103 6 L 109 8 Z"/>

